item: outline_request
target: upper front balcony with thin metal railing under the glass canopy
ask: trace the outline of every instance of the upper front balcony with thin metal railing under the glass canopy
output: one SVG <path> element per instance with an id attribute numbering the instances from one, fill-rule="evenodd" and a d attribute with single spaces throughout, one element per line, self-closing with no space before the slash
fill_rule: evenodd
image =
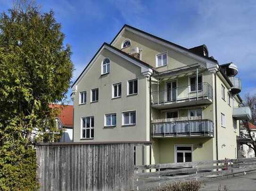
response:
<path id="1" fill-rule="evenodd" d="M 188 85 L 151 93 L 152 107 L 157 109 L 207 105 L 212 103 L 213 89 L 208 83 Z"/>

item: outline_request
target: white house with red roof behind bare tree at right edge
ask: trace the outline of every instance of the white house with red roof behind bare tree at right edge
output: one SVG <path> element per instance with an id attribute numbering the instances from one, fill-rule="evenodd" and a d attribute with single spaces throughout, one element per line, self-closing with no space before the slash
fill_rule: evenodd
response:
<path id="1" fill-rule="evenodd" d="M 248 130 L 246 127 L 244 127 L 245 125 L 248 125 L 248 128 L 251 130 L 251 136 L 252 136 L 253 140 L 255 141 L 256 140 L 256 126 L 250 122 L 241 126 L 241 128 L 240 128 L 241 137 L 249 138 Z M 248 144 L 249 144 L 249 142 L 248 142 Z M 245 145 L 245 144 L 240 145 L 240 152 L 241 152 L 241 155 L 245 158 L 255 157 L 254 150 L 251 149 L 248 145 Z"/>

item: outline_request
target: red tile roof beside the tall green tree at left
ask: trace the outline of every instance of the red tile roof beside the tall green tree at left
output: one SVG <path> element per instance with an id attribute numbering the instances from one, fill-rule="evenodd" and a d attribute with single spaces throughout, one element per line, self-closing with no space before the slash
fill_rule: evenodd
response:
<path id="1" fill-rule="evenodd" d="M 70 105 L 59 105 L 59 104 L 51 104 L 50 107 L 60 108 L 59 116 L 56 116 L 60 119 L 62 124 L 65 127 L 73 128 L 73 118 L 74 118 L 74 107 Z"/>

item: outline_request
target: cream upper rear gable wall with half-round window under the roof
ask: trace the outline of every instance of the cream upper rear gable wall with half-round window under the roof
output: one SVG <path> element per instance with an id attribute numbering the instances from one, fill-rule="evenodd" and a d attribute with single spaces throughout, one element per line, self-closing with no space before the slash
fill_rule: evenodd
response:
<path id="1" fill-rule="evenodd" d="M 142 61 L 150 64 L 154 68 L 156 67 L 156 54 L 167 52 L 167 66 L 157 68 L 158 71 L 175 69 L 190 64 L 201 63 L 172 49 L 166 48 L 165 46 L 159 45 L 149 41 L 146 38 L 135 35 L 130 31 L 124 31 L 123 35 L 121 35 L 120 38 L 116 40 L 113 46 L 121 49 L 121 45 L 125 39 L 131 40 L 131 46 L 123 48 L 122 51 L 129 53 L 131 48 L 139 47 L 142 49 Z"/>

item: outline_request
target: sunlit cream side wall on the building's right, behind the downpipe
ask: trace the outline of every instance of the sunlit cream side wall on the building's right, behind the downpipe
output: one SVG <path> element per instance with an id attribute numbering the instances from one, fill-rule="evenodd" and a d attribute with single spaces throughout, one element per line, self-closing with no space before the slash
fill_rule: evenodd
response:
<path id="1" fill-rule="evenodd" d="M 219 76 L 216 76 L 217 85 L 217 121 L 218 121 L 218 156 L 219 160 L 224 158 L 234 159 L 237 158 L 237 142 L 236 135 L 239 132 L 234 132 L 233 129 L 233 117 L 232 117 L 232 105 L 228 105 L 228 88 L 225 84 L 225 101 L 222 99 L 221 87 L 222 80 Z M 232 104 L 232 102 L 231 102 Z M 221 126 L 221 113 L 226 116 L 225 128 Z"/>

